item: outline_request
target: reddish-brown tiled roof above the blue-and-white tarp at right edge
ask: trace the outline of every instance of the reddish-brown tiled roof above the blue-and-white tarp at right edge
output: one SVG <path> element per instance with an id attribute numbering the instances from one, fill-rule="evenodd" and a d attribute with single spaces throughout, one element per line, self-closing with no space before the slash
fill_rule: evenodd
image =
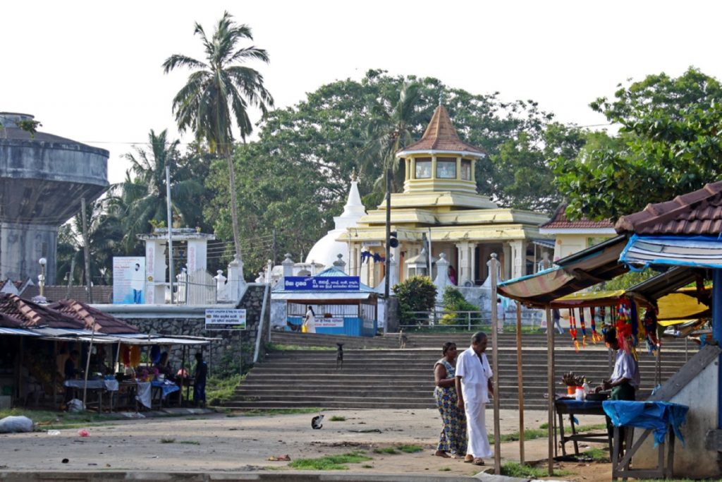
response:
<path id="1" fill-rule="evenodd" d="M 645 235 L 718 236 L 722 232 L 722 181 L 622 216 L 614 229 Z"/>

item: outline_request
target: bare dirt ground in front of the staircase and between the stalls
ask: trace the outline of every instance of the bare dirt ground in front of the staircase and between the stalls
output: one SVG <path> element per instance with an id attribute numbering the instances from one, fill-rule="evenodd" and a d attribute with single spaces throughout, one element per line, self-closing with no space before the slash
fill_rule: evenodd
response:
<path id="1" fill-rule="evenodd" d="M 337 455 L 351 450 L 367 452 L 373 460 L 349 465 L 349 473 L 426 473 L 474 475 L 476 467 L 461 459 L 432 455 L 441 427 L 436 410 L 324 410 L 323 428 L 313 430 L 313 413 L 243 416 L 213 414 L 177 418 L 147 418 L 89 426 L 88 437 L 79 429 L 1 434 L 0 470 L 288 470 L 288 462 L 271 456 L 299 458 Z M 332 416 L 344 421 L 329 421 Z M 601 423 L 599 417 L 579 417 L 582 424 Z M 538 429 L 547 421 L 544 411 L 525 412 L 525 426 Z M 501 433 L 518 431 L 518 412 L 502 410 Z M 487 429 L 493 426 L 487 408 Z M 547 439 L 526 442 L 526 460 L 547 457 Z M 374 448 L 417 444 L 422 452 L 377 454 Z M 518 460 L 518 442 L 501 445 L 503 461 Z M 63 463 L 64 459 L 68 462 Z M 493 460 L 487 460 L 493 465 Z M 565 480 L 609 481 L 609 464 L 563 463 L 575 475 Z M 557 477 L 562 478 L 562 477 Z"/>

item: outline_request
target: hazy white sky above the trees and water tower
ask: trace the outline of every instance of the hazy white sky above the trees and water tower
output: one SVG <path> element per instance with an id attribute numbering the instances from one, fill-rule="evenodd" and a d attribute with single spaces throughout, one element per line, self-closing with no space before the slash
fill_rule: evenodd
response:
<path id="1" fill-rule="evenodd" d="M 171 100 L 227 9 L 271 56 L 256 64 L 284 107 L 367 69 L 438 77 L 469 92 L 534 99 L 557 120 L 602 124 L 588 103 L 630 77 L 688 66 L 722 78 L 712 1 L 7 1 L 0 7 L 0 111 L 121 158 L 149 129 L 178 136 Z M 254 121 L 257 119 L 254 119 Z M 183 137 L 188 141 L 190 137 Z"/>

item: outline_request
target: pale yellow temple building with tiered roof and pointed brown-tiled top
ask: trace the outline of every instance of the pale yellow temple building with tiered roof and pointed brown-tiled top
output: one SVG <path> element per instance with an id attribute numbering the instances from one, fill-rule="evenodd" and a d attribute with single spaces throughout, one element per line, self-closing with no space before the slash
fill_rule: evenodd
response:
<path id="1" fill-rule="evenodd" d="M 406 178 L 404 192 L 391 194 L 391 231 L 399 240 L 391 249 L 391 283 L 414 274 L 435 277 L 424 269 L 429 246 L 432 262 L 443 254 L 462 286 L 487 279 L 492 253 L 500 259 L 503 279 L 534 273 L 552 259 L 553 238 L 539 233 L 547 215 L 500 208 L 478 194 L 475 163 L 483 162 L 484 152 L 458 137 L 443 105 L 423 137 L 396 158 L 404 163 Z M 386 200 L 336 238 L 350 244 L 349 275 L 359 275 L 369 286 L 378 286 L 385 275 L 380 262 L 385 230 Z"/>

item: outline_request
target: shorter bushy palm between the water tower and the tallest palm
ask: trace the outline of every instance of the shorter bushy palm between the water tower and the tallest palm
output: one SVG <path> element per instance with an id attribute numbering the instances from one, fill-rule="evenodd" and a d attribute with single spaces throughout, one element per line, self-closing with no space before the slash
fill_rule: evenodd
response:
<path id="1" fill-rule="evenodd" d="M 131 168 L 126 179 L 115 186 L 116 202 L 123 210 L 123 247 L 126 252 L 136 251 L 137 234 L 148 233 L 152 221 L 168 218 L 168 202 L 165 183 L 165 167 L 170 167 L 170 200 L 172 209 L 181 216 L 186 225 L 196 225 L 200 211 L 199 196 L 204 193 L 203 185 L 191 177 L 192 172 L 178 160 L 178 141 L 168 141 L 167 131 L 148 134 L 150 150 L 135 147 L 135 153 L 126 154 Z"/>

